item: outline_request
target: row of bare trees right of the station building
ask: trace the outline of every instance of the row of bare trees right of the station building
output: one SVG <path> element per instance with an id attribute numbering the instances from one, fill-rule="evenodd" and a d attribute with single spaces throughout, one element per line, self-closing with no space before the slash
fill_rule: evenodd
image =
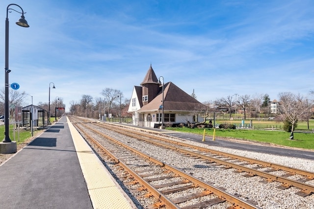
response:
<path id="1" fill-rule="evenodd" d="M 297 127 L 298 121 L 309 121 L 314 117 L 313 99 L 310 100 L 300 93 L 293 94 L 284 92 L 278 94 L 279 101 L 276 106 L 276 113 L 271 112 L 271 100 L 268 94 L 245 95 L 228 95 L 221 97 L 212 102 L 205 102 L 211 106 L 214 112 L 223 110 L 232 117 L 232 112 L 240 112 L 243 119 L 246 119 L 248 112 L 251 117 L 276 116 L 277 120 L 284 122 L 284 129 L 291 132 L 290 139 L 293 139 L 293 131 Z M 238 109 L 237 109 L 238 108 Z"/>

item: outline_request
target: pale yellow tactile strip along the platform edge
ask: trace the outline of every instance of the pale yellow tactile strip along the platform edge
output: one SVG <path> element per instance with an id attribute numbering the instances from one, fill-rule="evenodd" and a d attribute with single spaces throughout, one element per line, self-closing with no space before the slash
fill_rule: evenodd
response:
<path id="1" fill-rule="evenodd" d="M 104 164 L 67 118 L 94 209 L 136 209 L 131 199 L 114 180 Z"/>

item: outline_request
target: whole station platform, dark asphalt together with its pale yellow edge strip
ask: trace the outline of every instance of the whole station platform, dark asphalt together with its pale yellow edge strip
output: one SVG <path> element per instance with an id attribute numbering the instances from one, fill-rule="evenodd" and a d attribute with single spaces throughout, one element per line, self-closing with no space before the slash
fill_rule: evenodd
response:
<path id="1" fill-rule="evenodd" d="M 0 166 L 5 209 L 135 209 L 66 117 Z"/>

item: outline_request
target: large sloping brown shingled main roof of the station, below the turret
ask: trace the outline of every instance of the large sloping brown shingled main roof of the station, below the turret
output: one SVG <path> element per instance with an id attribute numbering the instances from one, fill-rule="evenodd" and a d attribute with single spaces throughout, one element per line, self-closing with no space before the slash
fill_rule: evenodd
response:
<path id="1" fill-rule="evenodd" d="M 147 105 L 144 105 L 138 112 L 158 110 L 162 105 L 162 87 L 157 96 Z M 164 102 L 163 109 L 166 111 L 193 111 L 203 107 L 202 103 L 195 98 L 185 93 L 182 89 L 177 87 L 174 83 L 168 82 L 164 84 Z"/>

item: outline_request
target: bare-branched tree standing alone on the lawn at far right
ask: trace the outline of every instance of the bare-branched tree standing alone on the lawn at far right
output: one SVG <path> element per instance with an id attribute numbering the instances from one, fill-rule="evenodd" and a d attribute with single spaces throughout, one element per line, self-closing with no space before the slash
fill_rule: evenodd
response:
<path id="1" fill-rule="evenodd" d="M 290 92 L 279 93 L 280 107 L 278 113 L 282 120 L 288 120 L 291 127 L 290 139 L 293 139 L 295 125 L 299 120 L 305 120 L 308 116 L 307 100 L 300 94 Z"/>

